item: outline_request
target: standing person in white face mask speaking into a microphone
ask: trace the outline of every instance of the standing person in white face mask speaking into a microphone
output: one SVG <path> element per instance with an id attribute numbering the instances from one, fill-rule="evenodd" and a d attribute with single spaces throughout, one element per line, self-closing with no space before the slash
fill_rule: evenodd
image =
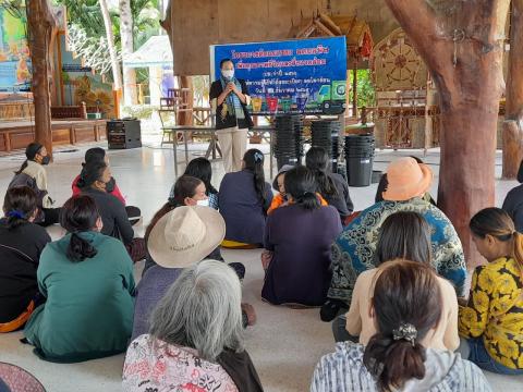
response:
<path id="1" fill-rule="evenodd" d="M 231 59 L 220 61 L 220 78 L 212 82 L 209 99 L 216 110 L 216 130 L 226 173 L 240 171 L 247 148 L 247 130 L 253 120 L 247 111 L 251 102 L 245 81 L 234 77 Z"/>

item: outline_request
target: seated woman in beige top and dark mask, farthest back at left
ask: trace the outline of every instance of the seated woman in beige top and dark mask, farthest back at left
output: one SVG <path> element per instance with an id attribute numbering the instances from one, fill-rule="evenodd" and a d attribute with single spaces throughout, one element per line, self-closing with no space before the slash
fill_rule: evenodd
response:
<path id="1" fill-rule="evenodd" d="M 47 191 L 47 171 L 45 166 L 49 164 L 51 158 L 45 146 L 39 143 L 32 143 L 25 149 L 27 158 L 22 167 L 14 172 L 14 177 L 8 186 L 11 189 L 16 186 L 28 186 L 37 196 L 38 215 L 35 223 L 42 226 L 56 224 L 60 218 L 60 208 L 53 208 L 54 201 Z"/>

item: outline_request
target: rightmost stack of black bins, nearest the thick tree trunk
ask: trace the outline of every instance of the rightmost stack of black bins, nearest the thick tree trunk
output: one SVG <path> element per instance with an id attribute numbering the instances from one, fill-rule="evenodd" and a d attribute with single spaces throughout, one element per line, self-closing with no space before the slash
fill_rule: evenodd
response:
<path id="1" fill-rule="evenodd" d="M 373 176 L 374 136 L 345 136 L 346 180 L 350 186 L 368 186 Z"/>

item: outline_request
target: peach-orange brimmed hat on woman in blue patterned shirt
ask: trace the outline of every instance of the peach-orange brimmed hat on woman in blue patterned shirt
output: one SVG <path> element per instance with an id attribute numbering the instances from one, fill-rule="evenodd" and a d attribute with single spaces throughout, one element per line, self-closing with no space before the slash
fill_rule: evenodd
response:
<path id="1" fill-rule="evenodd" d="M 428 191 L 433 182 L 433 171 L 425 163 L 417 163 L 414 158 L 400 158 L 389 164 L 387 182 L 384 199 L 404 201 Z"/>

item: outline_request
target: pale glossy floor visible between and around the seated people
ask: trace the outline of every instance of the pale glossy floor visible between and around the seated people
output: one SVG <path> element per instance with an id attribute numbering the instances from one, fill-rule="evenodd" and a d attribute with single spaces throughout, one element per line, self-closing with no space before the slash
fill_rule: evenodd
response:
<path id="1" fill-rule="evenodd" d="M 256 146 L 259 147 L 259 146 Z M 49 189 L 58 204 L 71 195 L 71 181 L 78 173 L 85 147 L 76 151 L 56 154 L 56 161 L 49 166 Z M 267 146 L 263 146 L 268 151 Z M 394 157 L 421 151 L 378 151 L 375 168 L 384 170 Z M 127 203 L 142 208 L 144 221 L 148 222 L 153 213 L 165 203 L 174 181 L 172 150 L 168 147 L 144 147 L 126 151 L 110 151 L 111 167 L 119 186 L 127 197 Z M 182 156 L 182 154 L 179 154 Z M 439 152 L 429 151 L 425 158 L 437 175 Z M 21 163 L 22 156 L 0 158 L 0 198 L 11 180 L 12 172 Z M 266 162 L 267 163 L 267 162 Z M 221 162 L 214 163 L 214 183 L 219 184 L 223 171 Z M 180 166 L 183 171 L 183 164 Z M 500 175 L 500 156 L 498 155 L 497 175 Z M 268 175 L 268 164 L 266 164 Z M 497 205 L 515 182 L 497 183 Z M 436 195 L 436 183 L 433 194 Z M 376 185 L 351 188 L 356 209 L 369 206 L 374 200 Z M 143 233 L 144 225 L 137 228 Z M 61 230 L 52 228 L 53 236 Z M 258 322 L 247 331 L 247 350 L 251 353 L 262 381 L 268 392 L 303 392 L 308 390 L 313 369 L 323 354 L 333 350 L 330 326 L 319 320 L 318 310 L 292 310 L 270 306 L 259 299 L 263 284 L 263 270 L 259 250 L 224 252 L 228 261 L 242 261 L 247 267 L 244 281 L 244 301 L 256 308 Z M 142 266 L 136 266 L 139 275 Z M 93 326 L 96 328 L 96 326 Z M 33 372 L 48 391 L 52 392 L 92 392 L 120 391 L 123 354 L 110 358 L 90 360 L 83 364 L 57 365 L 39 360 L 31 347 L 19 343 L 21 333 L 0 335 L 0 360 L 13 363 Z M 495 391 L 523 391 L 523 377 L 503 377 L 487 375 Z"/>

